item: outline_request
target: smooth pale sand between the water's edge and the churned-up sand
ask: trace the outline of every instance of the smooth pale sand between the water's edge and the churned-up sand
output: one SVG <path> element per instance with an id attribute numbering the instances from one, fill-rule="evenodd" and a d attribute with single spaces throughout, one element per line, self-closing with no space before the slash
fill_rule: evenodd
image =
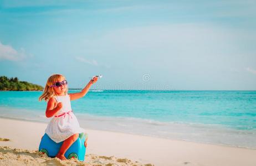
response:
<path id="1" fill-rule="evenodd" d="M 0 118 L 0 146 L 37 150 L 46 123 Z M 155 165 L 254 165 L 255 149 L 176 141 L 120 132 L 86 129 L 89 133 L 86 154 L 129 158 Z M 0 160 L 1 162 L 1 160 Z M 86 163 L 86 162 L 85 162 Z"/>

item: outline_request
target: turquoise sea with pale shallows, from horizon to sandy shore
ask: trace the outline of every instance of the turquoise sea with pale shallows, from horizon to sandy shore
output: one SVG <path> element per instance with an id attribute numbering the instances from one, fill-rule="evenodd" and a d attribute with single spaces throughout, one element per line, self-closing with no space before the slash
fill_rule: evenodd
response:
<path id="1" fill-rule="evenodd" d="M 0 91 L 0 117 L 49 122 L 41 94 Z M 90 90 L 71 107 L 85 129 L 256 149 L 256 91 Z"/>

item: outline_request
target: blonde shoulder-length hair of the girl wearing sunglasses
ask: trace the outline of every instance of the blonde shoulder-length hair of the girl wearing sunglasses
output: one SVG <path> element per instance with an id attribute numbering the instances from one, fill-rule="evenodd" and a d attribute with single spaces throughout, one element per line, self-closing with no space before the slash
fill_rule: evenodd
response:
<path id="1" fill-rule="evenodd" d="M 61 74 L 54 74 L 50 76 L 45 85 L 43 94 L 39 97 L 39 101 L 42 101 L 42 100 L 48 101 L 51 97 L 57 96 L 54 90 L 54 87 L 50 87 L 50 86 L 52 86 L 55 82 L 58 82 L 58 80 L 62 78 L 65 80 L 65 77 Z M 66 88 L 65 95 L 67 93 L 68 93 L 68 87 Z"/>

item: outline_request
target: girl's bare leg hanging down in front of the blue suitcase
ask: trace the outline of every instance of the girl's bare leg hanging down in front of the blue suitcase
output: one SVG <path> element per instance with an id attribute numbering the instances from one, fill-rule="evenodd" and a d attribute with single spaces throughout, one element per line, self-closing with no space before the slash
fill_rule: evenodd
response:
<path id="1" fill-rule="evenodd" d="M 64 154 L 66 153 L 68 148 L 76 141 L 76 139 L 78 139 L 78 136 L 79 136 L 79 134 L 76 133 L 76 134 L 70 136 L 68 139 L 66 139 L 63 142 L 62 147 L 60 147 L 59 152 L 56 155 L 56 157 L 61 160 L 65 160 L 66 158 L 65 158 Z"/>

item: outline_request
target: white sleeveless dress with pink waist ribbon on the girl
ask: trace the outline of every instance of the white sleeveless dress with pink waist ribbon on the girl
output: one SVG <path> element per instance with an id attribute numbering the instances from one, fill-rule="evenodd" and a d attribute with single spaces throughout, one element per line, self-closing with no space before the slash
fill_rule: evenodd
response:
<path id="1" fill-rule="evenodd" d="M 84 133 L 84 129 L 80 128 L 77 118 L 71 111 L 69 95 L 54 97 L 57 103 L 62 102 L 62 108 L 53 116 L 45 133 L 56 143 L 64 141 L 75 133 Z"/>

